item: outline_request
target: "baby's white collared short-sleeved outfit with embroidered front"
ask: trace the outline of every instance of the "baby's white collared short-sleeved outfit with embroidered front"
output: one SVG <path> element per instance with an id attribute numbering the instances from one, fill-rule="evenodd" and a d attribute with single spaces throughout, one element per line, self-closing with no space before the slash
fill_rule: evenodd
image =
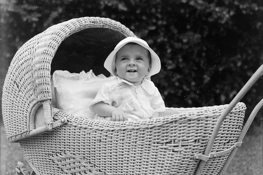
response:
<path id="1" fill-rule="evenodd" d="M 143 79 L 139 86 L 134 86 L 122 78 L 116 77 L 102 85 L 92 105 L 104 102 L 127 113 L 129 120 L 149 120 L 153 113 L 165 111 L 164 101 L 152 81 Z M 94 119 L 111 120 L 111 117 L 95 115 Z"/>

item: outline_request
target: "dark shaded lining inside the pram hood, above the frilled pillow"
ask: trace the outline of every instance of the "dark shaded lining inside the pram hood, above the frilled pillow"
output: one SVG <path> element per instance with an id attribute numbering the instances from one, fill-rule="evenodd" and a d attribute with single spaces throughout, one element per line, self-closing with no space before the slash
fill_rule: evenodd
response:
<path id="1" fill-rule="evenodd" d="M 109 28 L 87 28 L 66 38 L 59 45 L 51 64 L 51 74 L 55 70 L 67 70 L 71 73 L 93 70 L 96 75 L 106 77 L 110 73 L 103 63 L 117 43 L 127 36 Z"/>

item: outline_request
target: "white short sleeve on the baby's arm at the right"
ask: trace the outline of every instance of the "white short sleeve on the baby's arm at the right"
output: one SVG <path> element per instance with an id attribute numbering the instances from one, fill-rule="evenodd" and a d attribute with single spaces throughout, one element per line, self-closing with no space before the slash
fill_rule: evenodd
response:
<path id="1" fill-rule="evenodd" d="M 164 104 L 164 100 L 161 97 L 161 94 L 159 92 L 159 90 L 155 88 L 155 92 L 153 94 L 153 98 L 151 100 L 151 108 L 153 108 L 153 110 L 155 112 L 163 112 L 165 111 L 165 104 Z"/>

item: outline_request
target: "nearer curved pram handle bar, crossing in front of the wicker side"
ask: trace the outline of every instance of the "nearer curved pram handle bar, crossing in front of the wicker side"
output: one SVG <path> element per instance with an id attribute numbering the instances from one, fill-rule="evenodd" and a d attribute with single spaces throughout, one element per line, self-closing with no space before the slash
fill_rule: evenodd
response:
<path id="1" fill-rule="evenodd" d="M 216 136 L 218 134 L 218 131 L 220 129 L 221 124 L 223 123 L 226 116 L 229 114 L 229 112 L 235 107 L 235 105 L 245 96 L 247 91 L 255 84 L 255 82 L 262 76 L 263 74 L 263 65 L 261 65 L 257 71 L 252 75 L 252 77 L 247 81 L 247 83 L 243 86 L 243 88 L 237 93 L 235 98 L 229 103 L 229 105 L 226 107 L 226 109 L 222 112 L 222 114 L 219 116 L 219 119 L 216 122 L 216 125 L 214 127 L 214 130 L 210 136 L 210 139 L 208 141 L 208 144 L 206 146 L 204 155 L 208 156 L 211 152 L 211 149 L 213 147 L 213 144 L 215 142 Z M 196 175 L 200 175 L 204 166 L 205 166 L 204 160 L 201 160 L 199 163 L 200 171 L 196 171 Z"/>

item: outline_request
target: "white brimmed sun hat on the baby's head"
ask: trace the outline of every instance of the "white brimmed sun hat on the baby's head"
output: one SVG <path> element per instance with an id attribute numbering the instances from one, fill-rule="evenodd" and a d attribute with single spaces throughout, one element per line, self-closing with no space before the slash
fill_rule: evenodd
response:
<path id="1" fill-rule="evenodd" d="M 149 47 L 149 45 L 146 43 L 146 41 L 140 39 L 140 38 L 135 38 L 135 37 L 127 37 L 123 40 L 121 40 L 116 47 L 114 48 L 114 50 L 109 54 L 109 56 L 107 57 L 107 59 L 104 62 L 104 67 L 114 76 L 117 77 L 116 73 L 115 73 L 115 59 L 116 59 L 116 53 L 118 52 L 118 50 L 120 50 L 120 48 L 122 48 L 125 44 L 127 43 L 137 43 L 141 46 L 143 46 L 144 48 L 148 49 L 150 51 L 151 54 L 151 69 L 148 75 L 146 75 L 144 78 L 146 77 L 150 77 L 155 75 L 156 73 L 159 73 L 161 70 L 161 62 L 160 62 L 160 58 L 159 56 Z"/>

